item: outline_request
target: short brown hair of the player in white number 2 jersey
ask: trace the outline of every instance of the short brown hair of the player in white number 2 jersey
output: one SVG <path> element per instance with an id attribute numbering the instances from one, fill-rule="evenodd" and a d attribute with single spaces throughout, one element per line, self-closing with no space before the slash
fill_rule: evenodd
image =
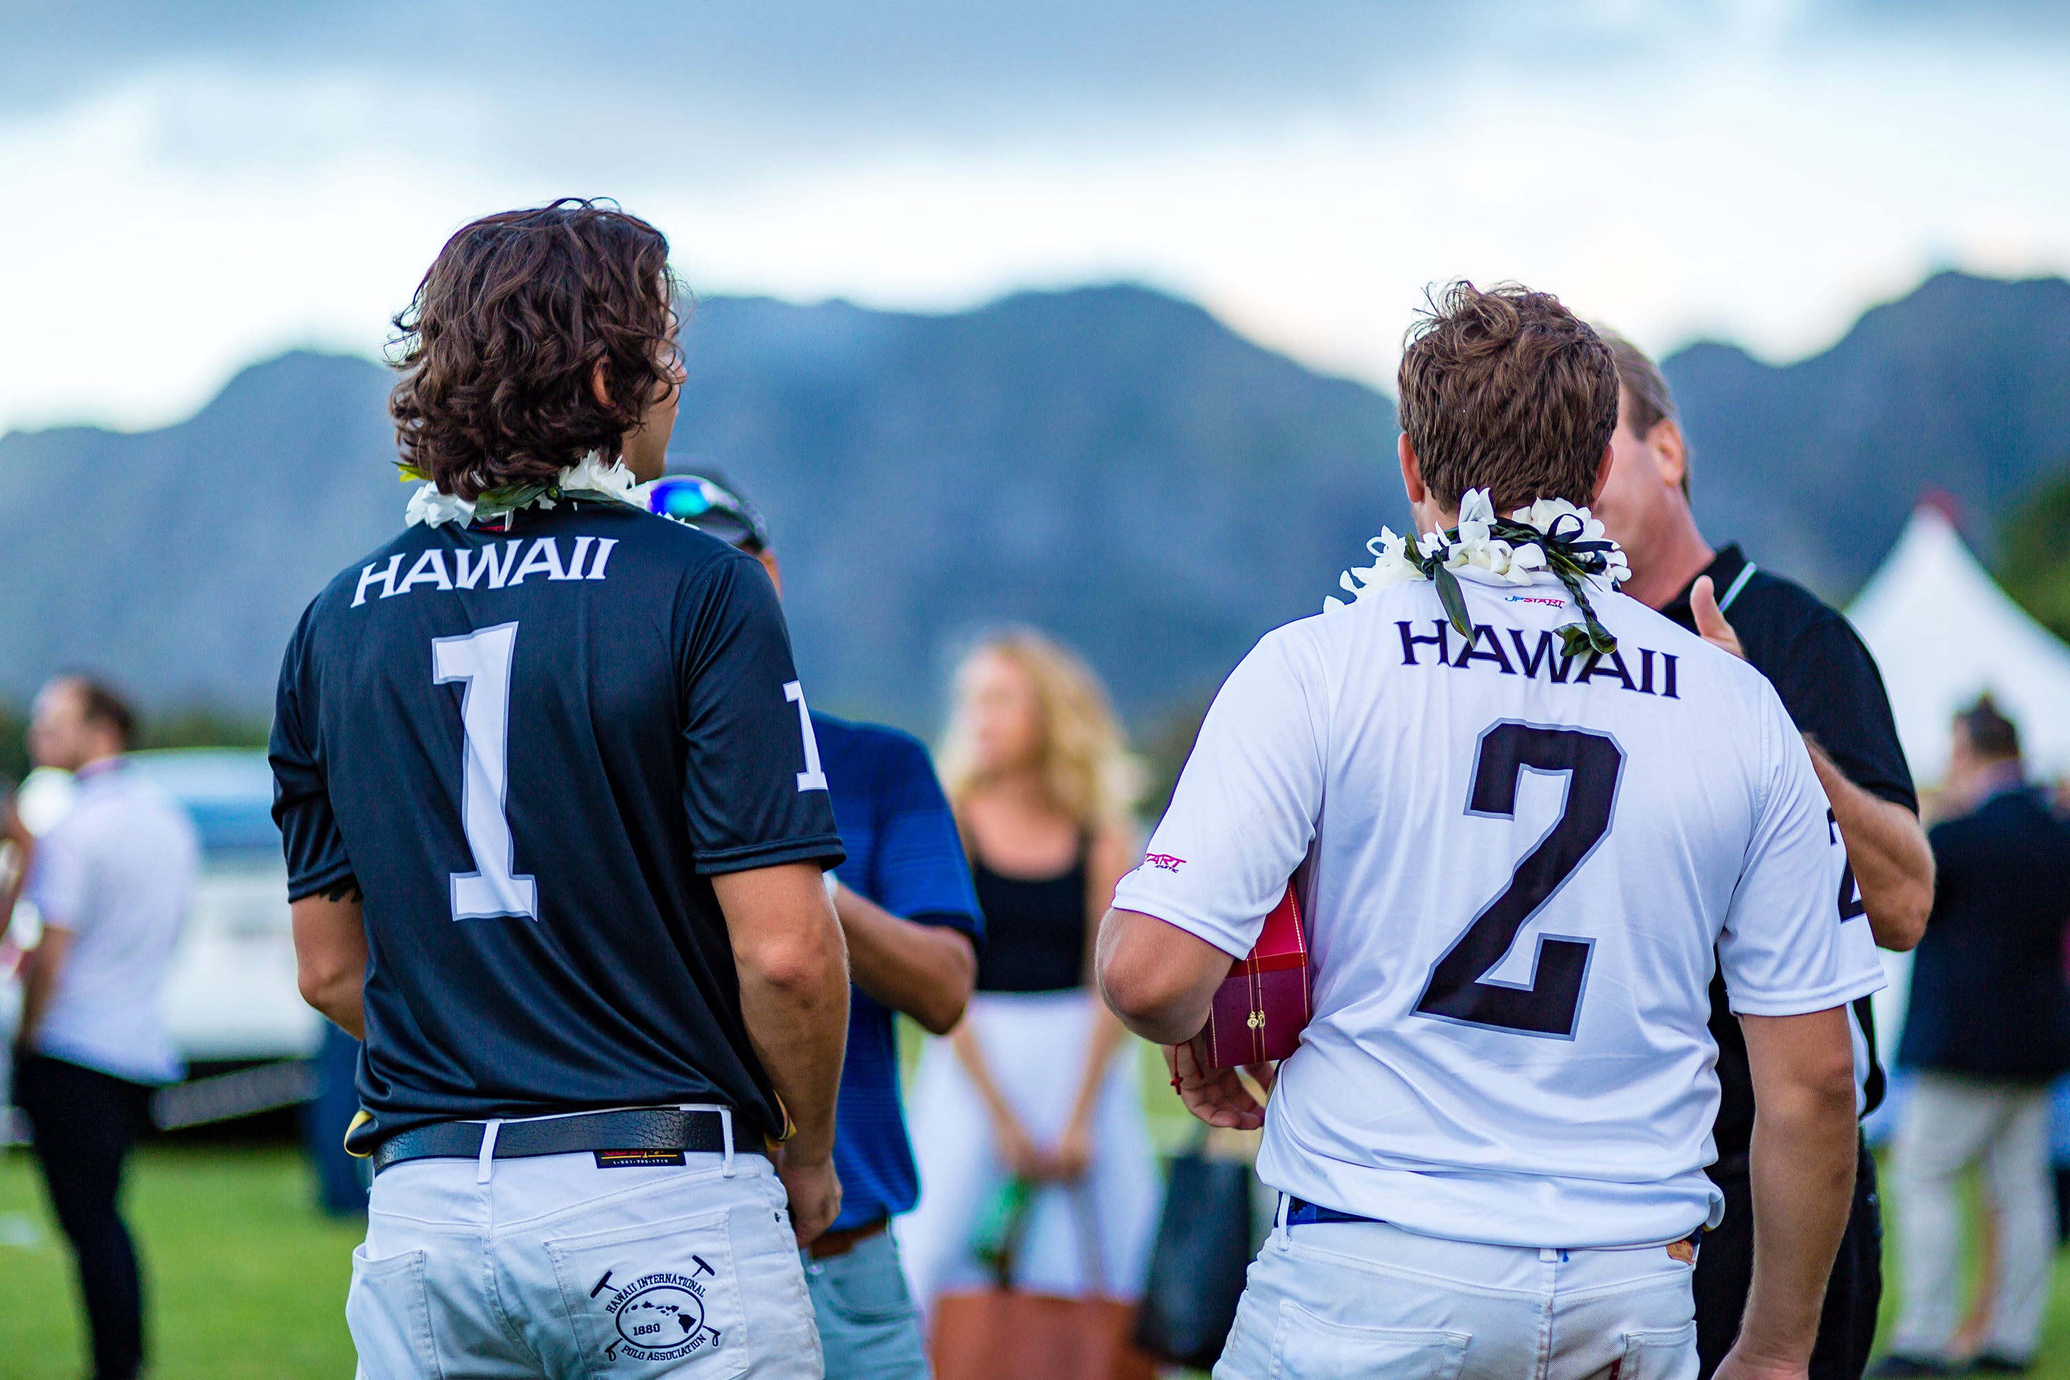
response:
<path id="1" fill-rule="evenodd" d="M 1397 383 L 1401 430 L 1445 507 L 1468 488 L 1492 490 L 1499 513 L 1596 497 L 1617 364 L 1552 294 L 1451 283 L 1410 327 Z"/>

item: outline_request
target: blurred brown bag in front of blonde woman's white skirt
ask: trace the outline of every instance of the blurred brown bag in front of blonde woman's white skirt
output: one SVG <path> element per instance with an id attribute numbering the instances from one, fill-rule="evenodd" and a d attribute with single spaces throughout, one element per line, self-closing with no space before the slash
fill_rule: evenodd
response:
<path id="1" fill-rule="evenodd" d="M 1060 1297 L 1012 1287 L 1014 1258 L 1035 1194 L 1010 1179 L 979 1214 L 973 1248 L 998 1285 L 944 1293 L 927 1353 L 936 1380 L 1155 1380 L 1151 1357 L 1130 1345 L 1136 1310 L 1120 1299 Z M 1081 1219 L 1089 1204 L 1078 1200 Z M 1085 1279 L 1103 1289 L 1097 1235 L 1081 1221 Z M 1097 1231 L 1097 1227 L 1093 1227 Z"/>

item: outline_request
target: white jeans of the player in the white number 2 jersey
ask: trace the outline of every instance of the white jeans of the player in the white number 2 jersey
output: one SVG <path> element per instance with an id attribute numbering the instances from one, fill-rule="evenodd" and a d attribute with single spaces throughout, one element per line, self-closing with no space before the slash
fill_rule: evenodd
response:
<path id="1" fill-rule="evenodd" d="M 1275 1227 L 1215 1380 L 1695 1380 L 1691 1266 L 1385 1223 Z"/>

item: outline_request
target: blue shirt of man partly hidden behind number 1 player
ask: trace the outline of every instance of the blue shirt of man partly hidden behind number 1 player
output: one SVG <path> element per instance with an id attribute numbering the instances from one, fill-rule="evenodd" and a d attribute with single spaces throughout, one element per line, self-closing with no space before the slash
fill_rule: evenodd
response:
<path id="1" fill-rule="evenodd" d="M 876 724 L 826 714 L 814 714 L 811 724 L 849 854 L 836 871 L 840 883 L 905 921 L 948 925 L 981 941 L 971 867 L 927 749 Z M 849 1061 L 834 1115 L 842 1190 L 834 1229 L 909 1212 L 919 1200 L 919 1173 L 898 1103 L 892 1014 L 859 987 L 849 993 Z"/>

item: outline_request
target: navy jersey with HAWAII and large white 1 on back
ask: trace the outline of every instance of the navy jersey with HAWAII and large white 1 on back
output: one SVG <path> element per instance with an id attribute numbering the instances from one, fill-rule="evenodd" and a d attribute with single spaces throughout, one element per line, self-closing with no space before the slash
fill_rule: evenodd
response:
<path id="1" fill-rule="evenodd" d="M 364 898 L 354 1148 L 673 1103 L 780 1126 L 712 877 L 840 838 L 753 557 L 604 497 L 410 528 L 302 614 L 271 759 L 290 900 Z"/>

